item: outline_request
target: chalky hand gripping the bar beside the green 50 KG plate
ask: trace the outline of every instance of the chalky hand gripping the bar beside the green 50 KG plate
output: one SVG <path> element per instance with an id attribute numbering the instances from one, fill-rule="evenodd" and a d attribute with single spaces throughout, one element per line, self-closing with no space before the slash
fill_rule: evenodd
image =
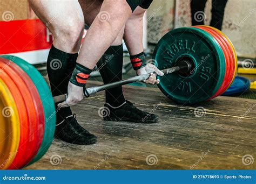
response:
<path id="1" fill-rule="evenodd" d="M 136 70 L 137 75 L 143 75 L 143 74 L 150 74 L 149 79 L 144 80 L 143 82 L 147 84 L 159 84 L 159 79 L 157 79 L 156 75 L 153 74 L 155 72 L 157 75 L 163 76 L 164 73 L 161 72 L 156 66 L 152 65 L 151 63 L 148 63 L 145 67 L 140 68 Z"/>

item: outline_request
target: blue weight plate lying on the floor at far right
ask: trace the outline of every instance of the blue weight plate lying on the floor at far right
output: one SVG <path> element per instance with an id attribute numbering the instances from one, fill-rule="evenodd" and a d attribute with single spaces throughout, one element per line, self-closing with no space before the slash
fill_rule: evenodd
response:
<path id="1" fill-rule="evenodd" d="M 250 80 L 246 79 L 245 77 L 236 76 L 230 88 L 228 88 L 222 95 L 228 96 L 241 94 L 248 89 L 250 89 Z"/>

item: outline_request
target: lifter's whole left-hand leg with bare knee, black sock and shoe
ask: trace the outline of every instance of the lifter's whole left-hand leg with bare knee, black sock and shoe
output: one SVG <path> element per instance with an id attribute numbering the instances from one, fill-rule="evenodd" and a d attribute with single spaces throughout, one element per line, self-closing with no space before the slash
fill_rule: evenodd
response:
<path id="1" fill-rule="evenodd" d="M 54 41 L 47 62 L 52 95 L 66 94 L 84 30 L 83 12 L 77 0 L 29 0 L 29 3 L 53 34 Z M 56 64 L 60 67 L 56 68 Z M 78 124 L 70 107 L 58 108 L 56 112 L 57 138 L 73 144 L 96 143 L 96 136 Z"/>

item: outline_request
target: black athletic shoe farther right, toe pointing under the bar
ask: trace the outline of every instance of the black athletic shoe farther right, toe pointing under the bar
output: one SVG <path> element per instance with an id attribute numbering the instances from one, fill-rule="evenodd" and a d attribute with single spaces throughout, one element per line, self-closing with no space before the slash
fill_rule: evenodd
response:
<path id="1" fill-rule="evenodd" d="M 124 121 L 134 123 L 156 123 L 159 119 L 157 115 L 144 112 L 126 100 L 122 106 L 114 108 L 110 104 L 105 104 L 105 111 L 109 116 L 104 117 L 105 121 Z"/>

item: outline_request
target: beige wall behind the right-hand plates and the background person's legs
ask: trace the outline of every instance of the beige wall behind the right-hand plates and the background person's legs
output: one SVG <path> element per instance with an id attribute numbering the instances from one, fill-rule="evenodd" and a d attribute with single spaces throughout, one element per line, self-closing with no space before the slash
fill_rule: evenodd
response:
<path id="1" fill-rule="evenodd" d="M 158 0 L 153 1 L 147 19 L 149 22 L 149 42 L 157 41 L 168 31 L 173 29 L 174 24 L 174 1 Z M 211 3 L 206 4 L 207 25 L 211 21 Z M 160 11 L 159 11 L 160 9 Z M 255 0 L 228 0 L 223 32 L 232 40 L 239 56 L 255 58 L 256 56 L 256 1 Z M 190 0 L 179 0 L 179 27 L 191 25 Z"/>

